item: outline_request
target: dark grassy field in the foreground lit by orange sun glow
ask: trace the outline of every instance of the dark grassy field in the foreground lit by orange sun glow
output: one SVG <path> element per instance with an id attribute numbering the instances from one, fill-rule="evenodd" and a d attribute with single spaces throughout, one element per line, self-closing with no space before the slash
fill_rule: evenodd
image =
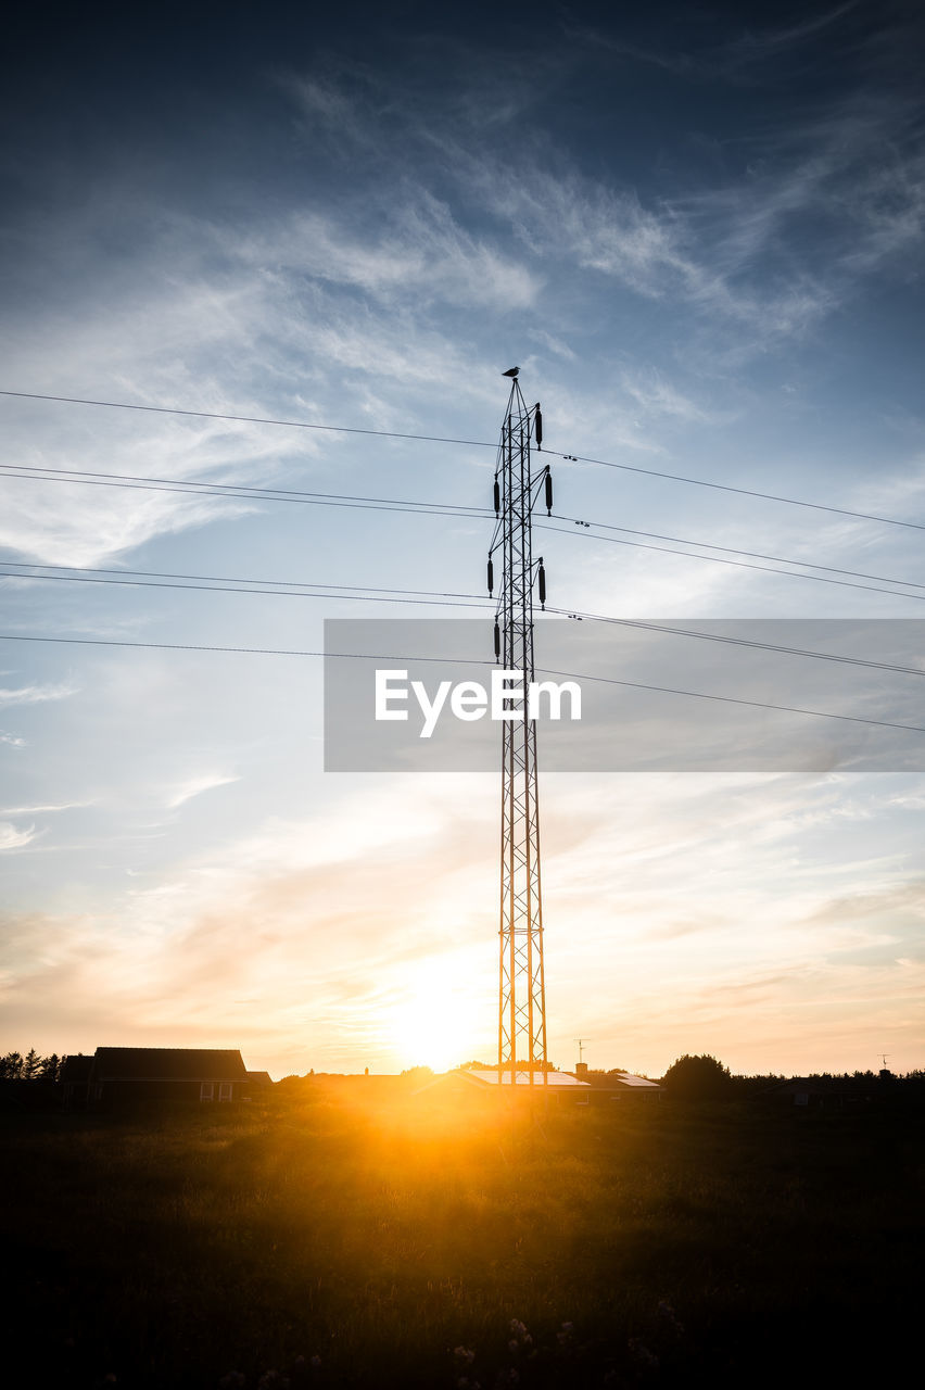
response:
<path id="1" fill-rule="evenodd" d="M 6 1359 L 31 1368 L 11 1383 L 906 1384 L 924 1118 L 665 1102 L 538 1123 L 321 1081 L 7 1115 Z"/>

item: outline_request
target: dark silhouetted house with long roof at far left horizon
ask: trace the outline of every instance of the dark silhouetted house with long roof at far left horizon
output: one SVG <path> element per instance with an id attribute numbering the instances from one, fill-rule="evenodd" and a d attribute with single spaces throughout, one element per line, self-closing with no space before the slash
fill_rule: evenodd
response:
<path id="1" fill-rule="evenodd" d="M 260 1090 L 238 1048 L 99 1047 L 93 1058 L 81 1061 L 90 1066 L 75 1069 L 86 1072 L 86 1079 L 71 1086 L 71 1104 L 207 1104 L 250 1099 L 251 1090 Z"/>

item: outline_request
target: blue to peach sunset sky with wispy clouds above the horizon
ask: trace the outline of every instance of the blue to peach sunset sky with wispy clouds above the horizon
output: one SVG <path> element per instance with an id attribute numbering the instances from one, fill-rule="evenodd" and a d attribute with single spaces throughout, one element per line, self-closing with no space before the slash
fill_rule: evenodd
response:
<path id="1" fill-rule="evenodd" d="M 535 537 L 551 605 L 925 617 L 921 7 L 142 3 L 7 28 L 0 1049 L 492 1061 L 497 776 L 325 773 L 318 657 L 179 648 L 478 617 L 368 591 L 481 602 L 514 364 L 567 518 Z M 661 684 L 728 689 L 729 657 L 678 644 Z M 826 709 L 869 713 L 856 676 Z M 804 680 L 792 662 L 785 703 Z M 911 770 L 857 770 L 828 721 L 800 770 L 692 771 L 685 696 L 658 701 L 662 770 L 543 777 L 540 745 L 550 1058 L 925 1065 L 925 735 L 899 735 Z M 825 723 L 788 717 L 794 742 Z"/>

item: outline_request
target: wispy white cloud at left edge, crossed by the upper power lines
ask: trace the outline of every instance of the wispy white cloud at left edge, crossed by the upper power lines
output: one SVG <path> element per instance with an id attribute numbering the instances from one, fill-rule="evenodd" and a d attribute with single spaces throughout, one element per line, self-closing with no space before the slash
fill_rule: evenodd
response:
<path id="1" fill-rule="evenodd" d="M 281 375 L 306 384 L 292 361 L 275 375 L 286 356 L 275 325 L 290 317 L 281 299 L 292 286 L 278 286 L 242 260 L 229 275 L 215 263 L 207 221 L 164 211 L 135 245 L 135 281 L 107 279 L 100 295 L 107 261 L 97 242 L 112 215 L 108 197 L 89 200 L 83 225 L 71 228 L 72 239 L 82 242 L 76 267 L 57 227 L 36 234 L 33 250 L 54 285 L 54 309 L 46 304 L 15 324 L 4 354 L 7 378 L 64 396 L 282 414 L 274 398 Z M 258 352 L 272 382 L 262 399 L 254 395 Z M 258 509 L 250 500 L 181 495 L 169 491 L 171 480 L 265 486 L 293 459 L 304 466 L 318 452 L 318 441 L 306 432 L 240 421 L 11 399 L 3 402 L 3 414 L 4 463 L 93 475 L 82 482 L 18 477 L 6 484 L 0 545 L 57 564 L 106 563 L 154 537 Z M 110 485 L 107 474 L 129 481 Z M 131 475 L 161 482 L 139 488 Z"/>

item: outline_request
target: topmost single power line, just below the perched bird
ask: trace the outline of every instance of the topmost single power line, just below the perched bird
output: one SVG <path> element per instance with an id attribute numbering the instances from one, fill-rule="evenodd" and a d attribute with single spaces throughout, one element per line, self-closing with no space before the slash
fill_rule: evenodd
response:
<path id="1" fill-rule="evenodd" d="M 268 416 L 236 416 L 212 410 L 182 410 L 175 406 L 143 406 L 128 400 L 90 400 L 83 396 L 51 396 L 35 391 L 0 391 L 0 396 L 17 398 L 21 400 L 53 400 L 71 406 L 104 406 L 112 410 L 143 410 L 160 416 L 188 416 L 196 420 L 229 420 L 238 424 L 281 425 L 288 430 L 322 430 L 332 434 L 371 435 L 379 439 L 418 439 L 424 443 L 453 443 L 471 449 L 496 449 L 497 442 L 488 439 L 456 439 L 446 435 L 421 435 L 412 432 L 399 432 L 394 430 L 362 430 L 353 425 L 314 424 L 307 420 L 275 420 Z M 636 473 L 649 478 L 661 478 L 667 482 L 683 482 L 693 488 L 711 488 L 718 492 L 733 492 L 743 498 L 757 498 L 761 502 L 779 502 L 790 507 L 808 507 L 812 512 L 828 512 L 833 516 L 851 517 L 857 521 L 876 521 L 881 525 L 907 527 L 912 531 L 925 531 L 925 523 L 903 521 L 899 517 L 885 517 L 874 512 L 854 512 L 850 507 L 835 507 L 824 502 L 807 502 L 804 498 L 788 498 L 776 492 L 758 492 L 754 488 L 738 488 L 731 482 L 712 482 L 708 478 L 692 478 L 683 473 L 667 473 L 658 468 L 643 468 L 640 464 L 615 463 L 611 459 L 592 459 L 588 455 L 562 453 L 557 449 L 544 450 L 554 459 L 567 463 L 588 463 L 599 468 L 618 468 L 622 473 Z"/>

